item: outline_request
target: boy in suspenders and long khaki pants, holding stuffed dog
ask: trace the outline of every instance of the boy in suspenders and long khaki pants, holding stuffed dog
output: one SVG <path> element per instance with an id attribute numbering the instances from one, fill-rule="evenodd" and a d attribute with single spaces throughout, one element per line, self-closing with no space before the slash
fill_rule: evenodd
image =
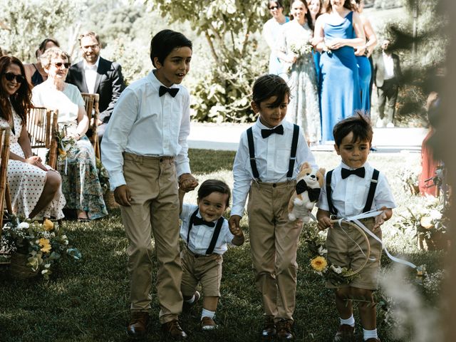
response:
<path id="1" fill-rule="evenodd" d="M 230 227 L 239 228 L 249 195 L 249 234 L 255 283 L 265 324 L 261 338 L 294 339 L 296 250 L 302 222 L 288 219 L 289 199 L 304 162 L 316 167 L 299 126 L 284 120 L 289 87 L 279 76 L 261 76 L 253 86 L 257 122 L 242 133 L 234 159 Z"/>

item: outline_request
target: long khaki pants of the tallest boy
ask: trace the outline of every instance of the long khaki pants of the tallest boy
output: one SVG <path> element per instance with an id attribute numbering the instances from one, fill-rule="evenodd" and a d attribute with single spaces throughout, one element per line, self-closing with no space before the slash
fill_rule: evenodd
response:
<path id="1" fill-rule="evenodd" d="M 182 311 L 179 249 L 179 198 L 172 157 L 142 157 L 124 153 L 123 174 L 131 191 L 131 206 L 121 207 L 123 224 L 130 245 L 130 309 L 150 309 L 152 285 L 152 241 L 157 256 L 157 295 L 160 323 Z"/>

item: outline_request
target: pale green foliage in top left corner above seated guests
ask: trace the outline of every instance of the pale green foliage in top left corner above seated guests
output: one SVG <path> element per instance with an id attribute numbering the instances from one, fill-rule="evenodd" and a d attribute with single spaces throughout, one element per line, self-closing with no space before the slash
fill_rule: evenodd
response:
<path id="1" fill-rule="evenodd" d="M 0 20 L 8 30 L 1 30 L 0 46 L 21 61 L 35 61 L 35 51 L 44 38 L 71 26 L 79 6 L 70 0 L 0 0 Z"/>

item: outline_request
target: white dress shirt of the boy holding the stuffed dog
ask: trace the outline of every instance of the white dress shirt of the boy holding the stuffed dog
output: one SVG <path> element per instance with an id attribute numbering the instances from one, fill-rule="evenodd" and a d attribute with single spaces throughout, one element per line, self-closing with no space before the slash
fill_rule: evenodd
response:
<path id="1" fill-rule="evenodd" d="M 255 160 L 259 178 L 262 182 L 276 183 L 286 181 L 288 172 L 291 140 L 293 138 L 292 123 L 282 120 L 284 134 L 271 134 L 268 138 L 261 137 L 261 129 L 269 129 L 258 119 L 252 126 L 254 138 Z M 296 179 L 299 173 L 299 167 L 303 162 L 309 162 L 312 167 L 317 167 L 314 155 L 312 155 L 302 128 L 299 128 L 298 145 L 296 147 L 296 161 L 291 179 Z M 232 215 L 242 216 L 244 206 L 249 193 L 250 185 L 254 180 L 252 167 L 250 166 L 249 143 L 247 142 L 247 131 L 244 131 L 239 141 L 239 147 L 234 158 L 233 165 L 234 188 L 233 188 L 233 207 Z"/>

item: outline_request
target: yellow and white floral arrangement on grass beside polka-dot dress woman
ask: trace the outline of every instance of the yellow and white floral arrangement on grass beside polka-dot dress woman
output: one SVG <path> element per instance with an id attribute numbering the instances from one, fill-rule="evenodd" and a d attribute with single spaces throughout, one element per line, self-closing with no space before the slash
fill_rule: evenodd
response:
<path id="1" fill-rule="evenodd" d="M 81 252 L 71 247 L 63 229 L 49 219 L 39 224 L 9 215 L 0 245 L 11 253 L 28 254 L 26 266 L 30 266 L 32 271 L 40 271 L 44 279 L 49 279 L 53 266 L 62 258 L 81 259 Z"/>

